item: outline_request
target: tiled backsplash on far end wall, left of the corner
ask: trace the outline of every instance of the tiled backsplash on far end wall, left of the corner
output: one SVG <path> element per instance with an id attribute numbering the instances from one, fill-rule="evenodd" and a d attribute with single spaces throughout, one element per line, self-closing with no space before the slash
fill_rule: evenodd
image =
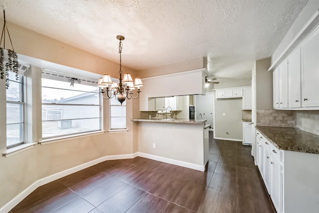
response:
<path id="1" fill-rule="evenodd" d="M 257 109 L 257 126 L 294 127 L 294 112 L 290 110 Z"/>

